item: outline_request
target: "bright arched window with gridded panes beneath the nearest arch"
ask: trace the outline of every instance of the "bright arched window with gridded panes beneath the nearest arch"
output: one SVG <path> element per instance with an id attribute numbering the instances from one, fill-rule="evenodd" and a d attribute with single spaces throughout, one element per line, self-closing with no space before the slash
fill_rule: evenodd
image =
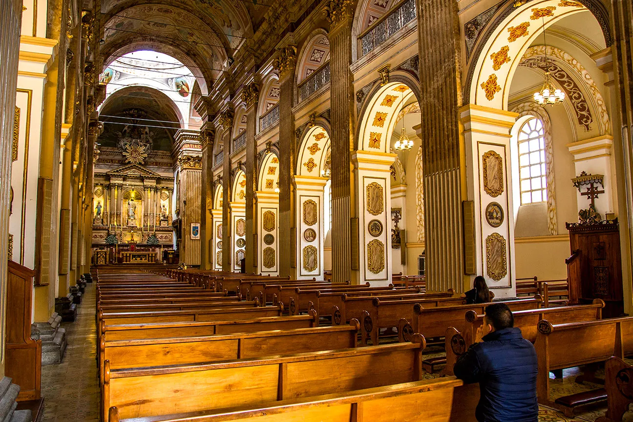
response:
<path id="1" fill-rule="evenodd" d="M 530 118 L 518 132 L 518 170 L 521 204 L 548 200 L 545 133 L 539 118 Z"/>

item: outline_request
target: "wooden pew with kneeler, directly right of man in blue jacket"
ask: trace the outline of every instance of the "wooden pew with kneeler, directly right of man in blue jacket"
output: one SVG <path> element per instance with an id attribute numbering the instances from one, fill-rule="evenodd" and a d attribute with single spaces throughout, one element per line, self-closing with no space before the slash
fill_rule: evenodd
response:
<path id="1" fill-rule="evenodd" d="M 534 347 L 539 360 L 536 384 L 539 403 L 557 407 L 565 414 L 573 414 L 573 407 L 604 400 L 605 394 L 583 394 L 582 397 L 573 394 L 558 397 L 553 402 L 549 398 L 550 371 L 599 363 L 611 356 L 623 358 L 633 353 L 633 317 L 556 325 L 541 320 L 537 328 Z M 595 378 L 586 368 L 580 379 Z"/>

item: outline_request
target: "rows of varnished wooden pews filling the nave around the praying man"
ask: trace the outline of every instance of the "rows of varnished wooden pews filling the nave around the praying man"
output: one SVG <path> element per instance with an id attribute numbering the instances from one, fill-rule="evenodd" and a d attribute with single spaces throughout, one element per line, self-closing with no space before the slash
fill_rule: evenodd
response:
<path id="1" fill-rule="evenodd" d="M 452 369 L 487 304 L 453 290 L 201 270 L 101 268 L 94 278 L 104 422 L 475 420 L 479 388 Z M 596 382 L 594 364 L 633 354 L 633 318 L 601 319 L 599 300 L 506 303 L 536 346 L 539 402 L 573 414 L 609 397 L 611 409 L 621 375 L 551 399 L 549 371 L 587 365 L 579 380 Z M 424 359 L 427 342 L 446 357 Z M 438 364 L 443 376 L 429 379 Z"/>

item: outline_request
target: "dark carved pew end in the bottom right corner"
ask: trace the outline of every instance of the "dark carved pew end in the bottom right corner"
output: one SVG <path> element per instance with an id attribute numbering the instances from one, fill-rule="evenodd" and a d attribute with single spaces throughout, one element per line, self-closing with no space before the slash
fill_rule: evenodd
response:
<path id="1" fill-rule="evenodd" d="M 633 402 L 633 366 L 619 357 L 607 359 L 604 390 L 607 409 L 605 416 L 600 416 L 596 422 L 622 422 Z"/>

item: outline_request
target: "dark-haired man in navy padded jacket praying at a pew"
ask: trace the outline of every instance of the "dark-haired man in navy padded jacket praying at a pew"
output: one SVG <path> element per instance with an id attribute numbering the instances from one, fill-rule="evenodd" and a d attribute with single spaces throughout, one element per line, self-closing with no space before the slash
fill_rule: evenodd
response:
<path id="1" fill-rule="evenodd" d="M 486 307 L 475 344 L 454 366 L 457 378 L 479 383 L 479 422 L 537 422 L 537 371 L 534 346 L 514 328 L 512 312 L 503 303 Z"/>

